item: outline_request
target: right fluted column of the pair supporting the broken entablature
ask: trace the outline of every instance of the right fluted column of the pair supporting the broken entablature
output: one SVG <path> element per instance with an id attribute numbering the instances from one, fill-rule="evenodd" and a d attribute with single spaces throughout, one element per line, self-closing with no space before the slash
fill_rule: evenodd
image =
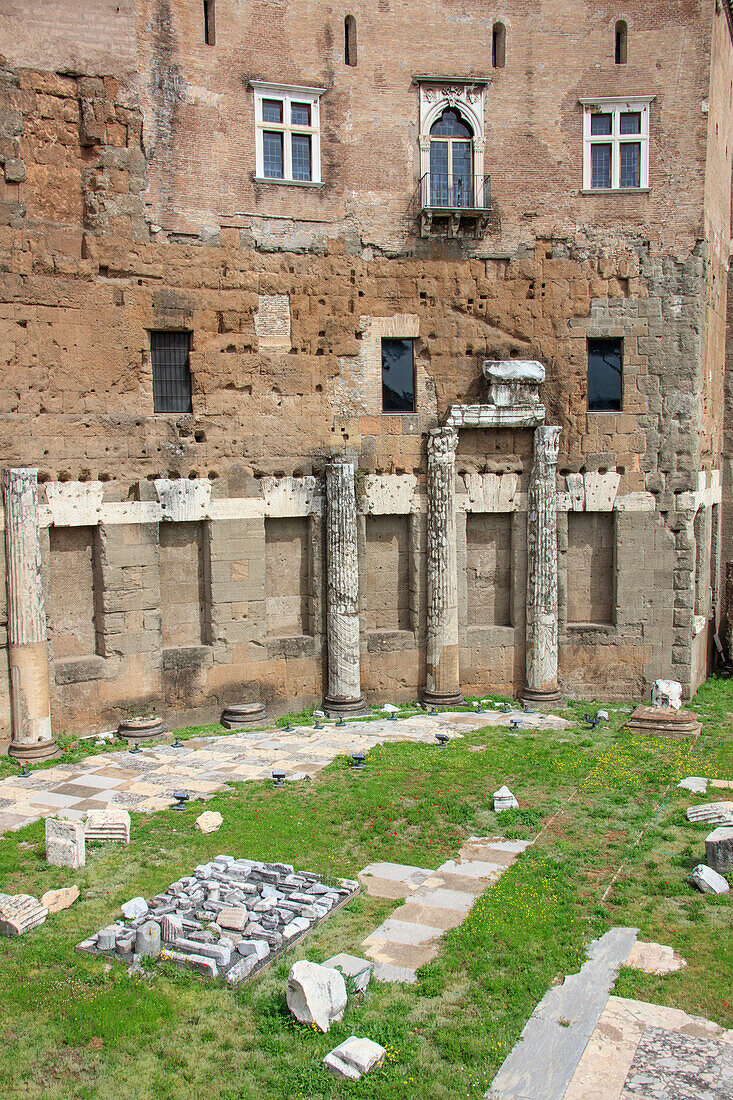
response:
<path id="1" fill-rule="evenodd" d="M 527 501 L 525 702 L 560 702 L 557 683 L 557 452 L 559 428 L 535 429 Z"/>

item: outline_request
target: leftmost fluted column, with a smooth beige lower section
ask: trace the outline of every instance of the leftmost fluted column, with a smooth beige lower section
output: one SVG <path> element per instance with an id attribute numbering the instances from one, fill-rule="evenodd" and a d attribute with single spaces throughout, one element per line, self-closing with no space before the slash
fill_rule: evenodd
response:
<path id="1" fill-rule="evenodd" d="M 37 470 L 3 470 L 8 658 L 12 740 L 9 754 L 45 760 L 58 751 L 51 733 L 48 641 L 41 579 Z"/>

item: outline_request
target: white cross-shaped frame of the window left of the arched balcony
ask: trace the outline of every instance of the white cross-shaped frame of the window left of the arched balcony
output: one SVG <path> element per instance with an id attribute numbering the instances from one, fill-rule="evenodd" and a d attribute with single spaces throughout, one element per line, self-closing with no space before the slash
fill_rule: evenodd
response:
<path id="1" fill-rule="evenodd" d="M 263 184 L 291 184 L 300 187 L 319 186 L 320 178 L 320 97 L 325 88 L 299 88 L 287 84 L 267 84 L 264 80 L 251 80 L 254 89 L 254 161 L 255 179 Z M 265 122 L 262 118 L 262 103 L 265 99 L 277 99 L 283 105 L 282 122 Z M 291 122 L 291 105 L 307 103 L 310 108 L 310 125 L 294 125 Z M 278 131 L 283 134 L 283 178 L 264 174 L 265 130 Z M 294 133 L 308 134 L 310 138 L 310 179 L 293 178 L 293 143 Z"/>

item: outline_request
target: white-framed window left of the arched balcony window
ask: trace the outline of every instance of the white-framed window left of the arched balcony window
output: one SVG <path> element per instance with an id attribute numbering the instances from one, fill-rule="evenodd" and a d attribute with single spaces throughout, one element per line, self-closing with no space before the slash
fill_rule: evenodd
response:
<path id="1" fill-rule="evenodd" d="M 259 179 L 320 183 L 319 98 L 324 88 L 252 81 Z"/>

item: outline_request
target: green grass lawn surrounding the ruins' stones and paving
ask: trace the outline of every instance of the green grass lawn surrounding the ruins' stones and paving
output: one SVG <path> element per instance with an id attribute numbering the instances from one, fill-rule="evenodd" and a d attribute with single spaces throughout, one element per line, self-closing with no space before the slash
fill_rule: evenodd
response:
<path id="1" fill-rule="evenodd" d="M 0 889 L 40 897 L 76 882 L 81 897 L 21 938 L 0 939 L 0 1096 L 227 1097 L 436 1100 L 481 1096 L 548 986 L 572 972 L 583 947 L 613 925 L 672 945 L 688 967 L 667 977 L 624 970 L 617 990 L 733 1027 L 731 895 L 687 882 L 708 827 L 692 802 L 725 798 L 677 789 L 685 776 L 733 779 L 733 682 L 713 680 L 696 706 L 703 732 L 688 741 L 634 737 L 627 712 L 594 730 L 488 727 L 451 743 L 385 745 L 353 773 L 337 759 L 316 780 L 247 783 L 207 803 L 225 818 L 203 836 L 200 802 L 183 813 L 135 815 L 128 848 L 89 845 L 79 871 L 47 867 L 44 826 L 0 838 Z M 578 704 L 568 715 L 580 718 Z M 521 809 L 496 816 L 506 782 Z M 416 986 L 373 982 L 328 1035 L 296 1024 L 285 1005 L 297 958 L 360 954 L 395 906 L 365 894 L 325 922 L 261 978 L 240 989 L 195 975 L 79 956 L 74 945 L 219 853 L 283 860 L 354 878 L 375 860 L 437 867 L 471 834 L 537 843 L 448 933 Z M 622 868 L 612 890 L 603 895 Z M 385 1066 L 355 1085 L 331 1078 L 324 1055 L 349 1035 L 387 1047 Z"/>

